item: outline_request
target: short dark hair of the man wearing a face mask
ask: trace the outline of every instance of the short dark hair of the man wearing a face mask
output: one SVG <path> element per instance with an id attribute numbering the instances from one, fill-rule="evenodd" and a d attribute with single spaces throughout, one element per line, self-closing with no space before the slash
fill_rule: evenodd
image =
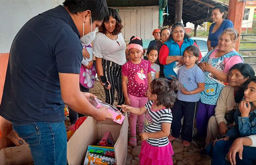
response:
<path id="1" fill-rule="evenodd" d="M 106 0 L 65 0 L 63 6 L 67 7 L 72 14 L 90 10 L 92 22 L 95 20 L 109 20 Z"/>

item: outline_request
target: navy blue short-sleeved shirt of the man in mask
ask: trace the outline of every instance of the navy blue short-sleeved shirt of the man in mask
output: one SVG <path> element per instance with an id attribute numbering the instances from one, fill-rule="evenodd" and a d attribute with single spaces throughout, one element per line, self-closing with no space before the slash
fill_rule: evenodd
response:
<path id="1" fill-rule="evenodd" d="M 79 38 L 61 5 L 29 20 L 11 46 L 0 115 L 20 124 L 63 121 L 58 73 L 79 74 Z"/>

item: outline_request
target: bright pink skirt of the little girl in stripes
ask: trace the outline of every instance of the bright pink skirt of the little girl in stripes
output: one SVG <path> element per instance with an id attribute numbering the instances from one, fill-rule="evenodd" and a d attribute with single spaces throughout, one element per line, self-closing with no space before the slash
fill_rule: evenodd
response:
<path id="1" fill-rule="evenodd" d="M 140 165 L 173 165 L 172 155 L 174 155 L 172 145 L 155 147 L 148 144 L 146 140 L 141 142 Z"/>

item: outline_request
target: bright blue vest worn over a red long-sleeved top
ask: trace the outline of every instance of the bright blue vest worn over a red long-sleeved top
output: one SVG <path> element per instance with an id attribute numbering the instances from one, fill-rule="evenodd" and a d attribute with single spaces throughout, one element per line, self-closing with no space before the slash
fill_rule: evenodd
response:
<path id="1" fill-rule="evenodd" d="M 174 42 L 174 40 L 172 40 L 172 39 L 165 42 L 164 44 L 166 46 L 168 46 L 168 48 L 169 48 L 169 56 L 183 56 L 184 50 L 188 46 L 194 45 L 194 42 L 195 41 L 192 39 L 188 40 L 187 38 L 185 38 L 181 47 L 179 47 L 179 45 L 176 42 Z M 174 61 L 168 65 L 164 65 L 163 73 L 164 73 L 165 77 L 171 78 L 170 75 L 173 75 L 177 78 L 177 74 L 173 71 L 173 68 L 175 67 L 175 62 L 176 61 Z"/>

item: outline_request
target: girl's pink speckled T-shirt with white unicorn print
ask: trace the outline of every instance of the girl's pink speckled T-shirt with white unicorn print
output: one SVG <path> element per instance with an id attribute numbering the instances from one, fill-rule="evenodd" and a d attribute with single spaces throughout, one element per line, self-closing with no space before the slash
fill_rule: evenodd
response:
<path id="1" fill-rule="evenodd" d="M 145 97 L 148 90 L 148 73 L 151 74 L 151 63 L 147 60 L 142 59 L 139 64 L 128 61 L 122 65 L 122 75 L 128 77 L 128 94 Z"/>

